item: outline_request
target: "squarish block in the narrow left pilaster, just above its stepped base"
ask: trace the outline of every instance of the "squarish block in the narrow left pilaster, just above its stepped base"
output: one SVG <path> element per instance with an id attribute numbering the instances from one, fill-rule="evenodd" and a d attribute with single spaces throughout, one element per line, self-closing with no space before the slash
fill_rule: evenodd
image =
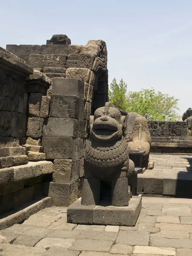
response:
<path id="1" fill-rule="evenodd" d="M 41 117 L 29 117 L 26 135 L 32 138 L 41 138 L 44 119 Z"/>

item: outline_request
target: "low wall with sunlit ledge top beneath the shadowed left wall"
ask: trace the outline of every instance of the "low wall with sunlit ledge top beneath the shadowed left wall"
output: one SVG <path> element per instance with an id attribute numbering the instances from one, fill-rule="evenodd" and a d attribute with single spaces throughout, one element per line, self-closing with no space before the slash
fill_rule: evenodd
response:
<path id="1" fill-rule="evenodd" d="M 0 170 L 0 214 L 47 197 L 52 162 L 29 162 Z"/>

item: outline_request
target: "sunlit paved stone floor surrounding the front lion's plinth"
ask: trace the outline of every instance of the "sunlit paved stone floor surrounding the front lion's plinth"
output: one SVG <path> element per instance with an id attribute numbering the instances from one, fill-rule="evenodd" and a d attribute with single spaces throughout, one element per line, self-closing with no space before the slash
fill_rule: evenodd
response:
<path id="1" fill-rule="evenodd" d="M 0 256 L 192 256 L 192 199 L 143 197 L 135 227 L 67 223 L 49 207 L 0 231 Z"/>

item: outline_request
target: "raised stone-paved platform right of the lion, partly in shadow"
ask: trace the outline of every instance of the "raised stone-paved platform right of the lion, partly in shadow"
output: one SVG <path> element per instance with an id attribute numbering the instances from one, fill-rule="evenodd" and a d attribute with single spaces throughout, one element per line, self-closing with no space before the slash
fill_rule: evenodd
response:
<path id="1" fill-rule="evenodd" d="M 192 196 L 192 156 L 150 154 L 154 169 L 138 174 L 137 191 L 179 197 Z"/>

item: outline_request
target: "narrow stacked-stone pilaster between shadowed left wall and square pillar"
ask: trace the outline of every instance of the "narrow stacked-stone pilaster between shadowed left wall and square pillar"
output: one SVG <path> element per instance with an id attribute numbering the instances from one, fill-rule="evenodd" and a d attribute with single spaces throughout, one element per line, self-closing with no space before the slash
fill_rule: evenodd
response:
<path id="1" fill-rule="evenodd" d="M 28 100 L 28 122 L 25 143 L 29 161 L 45 160 L 41 139 L 44 121 L 49 118 L 50 96 L 47 89 L 51 80 L 43 73 L 34 71 L 34 74 L 27 79 L 27 90 L 29 91 Z"/>

